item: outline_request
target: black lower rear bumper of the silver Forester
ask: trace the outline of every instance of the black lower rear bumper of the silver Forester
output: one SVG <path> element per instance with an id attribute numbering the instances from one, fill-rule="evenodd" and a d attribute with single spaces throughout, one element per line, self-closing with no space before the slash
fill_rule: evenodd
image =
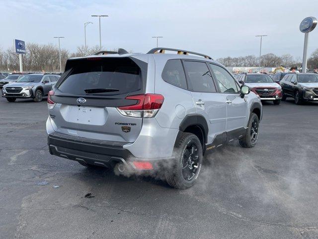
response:
<path id="1" fill-rule="evenodd" d="M 133 162 L 151 162 L 153 169 L 164 166 L 169 158 L 137 158 L 128 149 L 125 142 L 104 141 L 71 136 L 53 132 L 48 136 L 50 154 L 78 162 L 114 168 L 123 164 L 127 171 L 141 171 Z M 144 171 L 144 170 L 142 170 Z"/>

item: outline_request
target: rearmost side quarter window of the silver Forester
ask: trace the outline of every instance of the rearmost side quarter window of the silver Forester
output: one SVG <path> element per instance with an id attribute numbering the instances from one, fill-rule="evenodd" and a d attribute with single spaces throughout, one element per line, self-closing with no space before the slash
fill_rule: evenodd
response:
<path id="1" fill-rule="evenodd" d="M 171 85 L 187 89 L 187 82 L 180 59 L 168 60 L 163 68 L 161 77 Z"/>

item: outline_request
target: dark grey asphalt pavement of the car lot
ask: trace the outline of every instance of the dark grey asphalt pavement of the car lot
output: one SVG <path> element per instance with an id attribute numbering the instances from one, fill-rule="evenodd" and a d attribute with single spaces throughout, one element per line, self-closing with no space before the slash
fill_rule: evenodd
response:
<path id="1" fill-rule="evenodd" d="M 210 154 L 188 190 L 50 155 L 47 117 L 0 99 L 1 239 L 318 238 L 318 103 L 265 103 L 257 145 Z"/>

